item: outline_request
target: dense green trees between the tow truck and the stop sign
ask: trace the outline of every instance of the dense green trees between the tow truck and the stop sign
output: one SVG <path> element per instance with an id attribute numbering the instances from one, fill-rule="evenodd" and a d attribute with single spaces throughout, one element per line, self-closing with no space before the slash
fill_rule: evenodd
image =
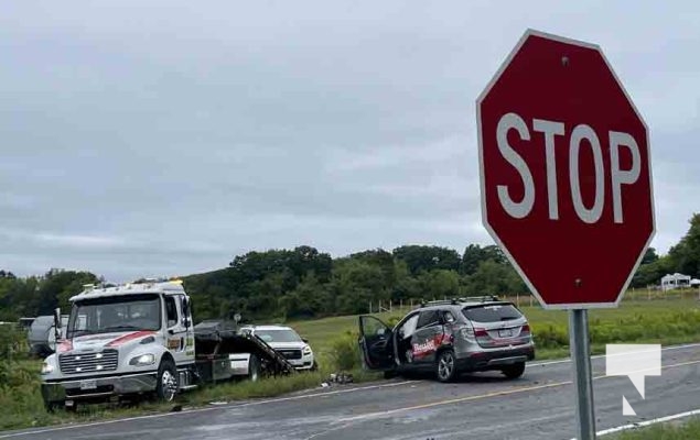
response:
<path id="1" fill-rule="evenodd" d="M 527 292 L 497 246 L 460 255 L 405 245 L 332 258 L 312 246 L 249 252 L 227 268 L 184 278 L 197 316 L 301 319 L 368 311 L 370 301 L 408 301 Z"/>

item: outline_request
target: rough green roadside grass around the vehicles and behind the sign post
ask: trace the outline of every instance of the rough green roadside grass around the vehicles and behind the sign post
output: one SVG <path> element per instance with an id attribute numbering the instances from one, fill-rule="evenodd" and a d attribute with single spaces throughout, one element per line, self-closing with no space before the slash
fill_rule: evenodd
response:
<path id="1" fill-rule="evenodd" d="M 590 331 L 594 353 L 604 352 L 605 343 L 661 343 L 665 345 L 700 341 L 700 301 L 689 296 L 674 300 L 626 300 L 617 309 L 590 311 Z M 568 315 L 566 311 L 546 311 L 538 306 L 521 307 L 535 334 L 538 359 L 568 356 Z M 408 311 L 375 315 L 386 321 L 396 321 Z M 213 400 L 236 400 L 271 397 L 284 393 L 319 387 L 331 372 L 346 370 L 356 382 L 371 381 L 377 374 L 359 369 L 357 349 L 357 317 L 334 317 L 289 323 L 308 338 L 319 358 L 321 370 L 290 377 L 262 380 L 257 383 L 227 383 L 207 386 L 179 397 L 187 406 L 206 405 Z M 0 362 L 0 366 L 2 362 Z M 44 410 L 39 388 L 36 361 L 14 362 L 2 371 L 9 380 L 0 383 L 0 430 L 32 426 L 89 421 L 104 418 L 166 411 L 171 405 L 142 404 L 136 408 L 86 406 L 78 414 Z M 649 437 L 651 438 L 651 437 Z M 666 437 L 664 437 L 666 438 Z M 672 437 L 669 437 L 672 438 Z M 686 437 L 678 437 L 683 439 Z M 700 436 L 693 437 L 700 438 Z M 625 438 L 627 439 L 627 438 Z M 629 438 L 637 439 L 637 438 Z M 646 438 L 640 438 L 646 439 Z"/>

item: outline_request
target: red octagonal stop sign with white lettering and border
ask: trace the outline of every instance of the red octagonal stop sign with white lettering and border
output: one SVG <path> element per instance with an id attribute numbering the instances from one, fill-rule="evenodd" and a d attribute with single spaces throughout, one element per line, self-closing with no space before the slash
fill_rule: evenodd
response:
<path id="1" fill-rule="evenodd" d="M 600 47 L 527 31 L 476 114 L 491 235 L 543 307 L 615 307 L 654 196 L 646 124 Z"/>

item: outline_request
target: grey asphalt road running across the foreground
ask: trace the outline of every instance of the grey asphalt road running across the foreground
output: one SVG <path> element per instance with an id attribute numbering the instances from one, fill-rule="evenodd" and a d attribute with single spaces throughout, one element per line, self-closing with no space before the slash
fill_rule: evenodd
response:
<path id="1" fill-rule="evenodd" d="M 453 384 L 387 381 L 161 416 L 0 433 L 36 440 L 571 439 L 571 363 L 534 363 L 517 381 L 497 373 Z M 700 344 L 666 349 L 643 399 L 627 377 L 593 360 L 597 430 L 700 408 Z M 637 417 L 623 417 L 625 395 Z"/>

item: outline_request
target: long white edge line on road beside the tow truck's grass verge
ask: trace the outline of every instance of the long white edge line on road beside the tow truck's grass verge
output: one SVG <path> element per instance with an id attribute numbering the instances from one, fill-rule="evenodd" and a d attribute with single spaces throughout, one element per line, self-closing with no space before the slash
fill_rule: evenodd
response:
<path id="1" fill-rule="evenodd" d="M 9 439 L 9 438 L 13 438 L 13 437 L 23 437 L 23 436 L 34 436 L 34 435 L 37 435 L 37 433 L 63 431 L 63 430 L 66 430 L 66 429 L 88 428 L 88 427 L 100 426 L 100 425 L 120 424 L 122 421 L 146 420 L 146 419 L 153 419 L 153 418 L 159 418 L 159 417 L 170 417 L 170 416 L 177 416 L 177 415 L 183 415 L 183 414 L 195 414 L 195 413 L 206 413 L 206 411 L 214 411 L 214 410 L 222 410 L 222 409 L 245 408 L 245 407 L 249 407 L 249 406 L 276 404 L 278 402 L 300 400 L 300 399 L 306 399 L 306 398 L 312 398 L 312 397 L 324 397 L 324 396 L 332 396 L 332 395 L 337 395 L 337 394 L 362 392 L 362 391 L 367 391 L 367 389 L 388 388 L 388 387 L 392 387 L 392 386 L 412 384 L 412 383 L 416 383 L 416 382 L 418 382 L 418 381 L 403 381 L 403 382 L 396 382 L 396 383 L 390 383 L 390 384 L 368 385 L 368 386 L 363 386 L 363 387 L 357 387 L 357 388 L 349 388 L 349 389 L 336 389 L 336 391 L 325 392 L 325 393 L 303 394 L 303 395 L 300 395 L 300 396 L 280 397 L 280 398 L 273 398 L 273 399 L 267 399 L 267 400 L 258 400 L 258 402 L 247 402 L 247 403 L 244 403 L 244 404 L 231 404 L 231 405 L 222 405 L 222 406 L 216 406 L 216 407 L 187 409 L 187 410 L 179 411 L 179 413 L 163 413 L 163 414 L 153 414 L 153 415 L 149 415 L 149 416 L 137 416 L 137 417 L 128 417 L 128 418 L 120 418 L 120 419 L 114 419 L 114 420 L 95 421 L 95 422 L 91 422 L 91 424 L 49 427 L 49 428 L 44 428 L 44 429 L 35 429 L 35 430 L 32 430 L 32 431 L 23 431 L 23 432 L 13 432 L 13 433 L 0 435 L 0 439 Z"/>

